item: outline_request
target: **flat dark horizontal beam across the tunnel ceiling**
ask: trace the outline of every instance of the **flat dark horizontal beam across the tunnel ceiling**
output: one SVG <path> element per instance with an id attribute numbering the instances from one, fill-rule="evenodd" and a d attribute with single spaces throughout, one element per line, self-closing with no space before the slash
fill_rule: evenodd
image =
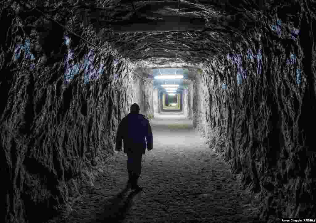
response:
<path id="1" fill-rule="evenodd" d="M 112 24 L 111 28 L 115 33 L 203 30 L 205 28 L 205 20 L 203 18 L 164 17 L 163 20 L 145 19 L 141 22 L 119 22 Z"/>

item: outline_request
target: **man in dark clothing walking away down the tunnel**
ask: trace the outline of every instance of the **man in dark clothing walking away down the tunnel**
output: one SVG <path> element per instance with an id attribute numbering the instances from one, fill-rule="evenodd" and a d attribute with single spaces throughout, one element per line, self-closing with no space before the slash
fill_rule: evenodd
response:
<path id="1" fill-rule="evenodd" d="M 122 139 L 124 142 L 124 153 L 127 153 L 128 186 L 131 189 L 141 191 L 143 188 L 137 185 L 141 171 L 142 155 L 147 150 L 153 149 L 153 134 L 149 121 L 144 115 L 139 114 L 139 106 L 131 105 L 131 113 L 126 115 L 119 124 L 116 134 L 115 150 L 122 150 Z M 146 142 L 145 142 L 146 138 Z"/>

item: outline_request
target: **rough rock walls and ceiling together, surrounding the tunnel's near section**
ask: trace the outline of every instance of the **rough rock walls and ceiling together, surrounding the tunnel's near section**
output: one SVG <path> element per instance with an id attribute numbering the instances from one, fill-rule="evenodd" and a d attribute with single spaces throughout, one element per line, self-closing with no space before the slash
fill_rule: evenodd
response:
<path id="1" fill-rule="evenodd" d="M 144 79 L 157 65 L 195 66 L 187 92 L 194 126 L 260 193 L 262 220 L 315 217 L 314 1 L 28 3 L 116 57 L 36 10 L 0 2 L 5 222 L 35 222 L 35 211 L 58 209 L 93 185 L 131 103 L 147 117 L 154 112 L 152 80 Z M 179 9 L 205 19 L 206 28 L 111 30 L 117 22 L 178 16 Z M 141 76 L 118 58 L 142 67 Z"/>

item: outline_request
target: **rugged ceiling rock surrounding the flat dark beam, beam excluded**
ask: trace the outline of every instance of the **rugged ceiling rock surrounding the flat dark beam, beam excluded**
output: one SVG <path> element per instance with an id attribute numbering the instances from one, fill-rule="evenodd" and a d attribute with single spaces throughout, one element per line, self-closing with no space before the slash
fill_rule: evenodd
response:
<path id="1" fill-rule="evenodd" d="M 244 32 L 259 21 L 260 9 L 267 8 L 269 2 L 133 1 L 131 4 L 128 1 L 102 1 L 102 6 L 106 7 L 101 18 L 107 22 L 104 23 L 103 35 L 131 61 L 149 66 L 200 65 L 217 54 L 228 52 L 230 42 L 236 40 L 235 34 Z M 96 7 L 88 3 L 87 5 Z M 92 14 L 94 10 L 90 11 Z M 205 29 L 120 34 L 111 32 L 111 24 L 116 22 L 159 22 L 168 16 L 168 23 L 168 20 L 178 14 L 181 17 L 204 19 Z"/>

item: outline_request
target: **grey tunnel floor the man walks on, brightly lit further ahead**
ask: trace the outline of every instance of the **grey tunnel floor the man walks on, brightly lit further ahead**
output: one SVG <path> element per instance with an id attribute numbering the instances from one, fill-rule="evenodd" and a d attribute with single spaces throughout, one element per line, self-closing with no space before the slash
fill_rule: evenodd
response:
<path id="1" fill-rule="evenodd" d="M 143 155 L 138 180 L 143 191 L 125 188 L 127 156 L 117 152 L 95 188 L 50 222 L 260 222 L 254 214 L 258 198 L 240 189 L 238 176 L 209 149 L 191 120 L 181 113 L 155 114 L 150 124 L 154 145 Z"/>

